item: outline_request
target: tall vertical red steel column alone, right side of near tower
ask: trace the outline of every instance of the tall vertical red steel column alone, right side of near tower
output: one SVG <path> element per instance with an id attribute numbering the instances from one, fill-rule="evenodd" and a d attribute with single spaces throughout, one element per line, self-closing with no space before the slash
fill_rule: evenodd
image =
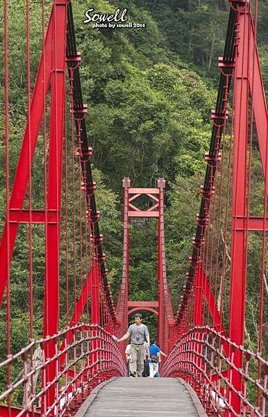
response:
<path id="1" fill-rule="evenodd" d="M 248 10 L 237 14 L 240 40 L 235 56 L 234 74 L 234 140 L 233 140 L 233 202 L 232 202 L 232 242 L 231 242 L 231 288 L 229 312 L 229 338 L 237 345 L 244 344 L 244 312 L 246 303 L 246 230 L 237 230 L 237 218 L 246 217 L 246 155 L 249 122 L 249 27 L 251 15 Z M 234 357 L 235 366 L 242 368 L 242 352 Z M 233 372 L 232 383 L 237 391 L 242 390 L 240 373 Z M 240 414 L 241 400 L 232 396 L 232 406 Z"/>

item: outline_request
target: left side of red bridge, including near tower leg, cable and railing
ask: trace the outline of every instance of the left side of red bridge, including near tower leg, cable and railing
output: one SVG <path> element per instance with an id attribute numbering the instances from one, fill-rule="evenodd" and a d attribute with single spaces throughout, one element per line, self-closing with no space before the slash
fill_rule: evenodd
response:
<path id="1" fill-rule="evenodd" d="M 27 13 L 29 9 L 27 6 Z M 44 10 L 43 10 L 44 18 Z M 7 31 L 7 22 L 6 22 Z M 29 24 L 27 22 L 27 31 Z M 43 33 L 44 35 L 44 33 Z M 7 51 L 6 51 L 7 54 Z M 74 37 L 74 25 L 72 22 L 72 5 L 65 0 L 57 0 L 53 4 L 51 17 L 47 27 L 47 34 L 43 38 L 43 51 L 40 58 L 40 65 L 37 72 L 33 95 L 30 96 L 29 89 L 27 92 L 28 105 L 28 122 L 22 141 L 21 153 L 17 163 L 17 170 L 12 186 L 10 199 L 7 199 L 7 215 L 6 224 L 3 230 L 0 245 L 0 300 L 3 300 L 4 291 L 7 288 L 6 300 L 10 300 L 10 265 L 12 261 L 12 252 L 15 247 L 19 224 L 28 224 L 30 235 L 30 263 L 29 263 L 29 293 L 30 293 L 30 326 L 31 338 L 33 337 L 33 319 L 35 311 L 33 311 L 33 249 L 31 240 L 33 238 L 33 224 L 44 224 L 45 245 L 44 245 L 44 328 L 43 339 L 39 342 L 31 342 L 31 344 L 12 357 L 8 352 L 8 359 L 1 363 L 8 369 L 8 386 L 10 386 L 10 370 L 12 363 L 18 358 L 22 358 L 24 363 L 24 379 L 20 379 L 15 386 L 10 386 L 6 394 L 8 401 L 11 402 L 12 393 L 16 386 L 24 384 L 27 379 L 28 383 L 24 384 L 24 402 L 23 409 L 31 410 L 31 414 L 35 413 L 37 400 L 39 398 L 41 408 L 40 411 L 45 415 L 53 415 L 56 412 L 55 407 L 62 409 L 62 413 L 71 413 L 72 410 L 78 408 L 79 395 L 83 396 L 91 391 L 94 385 L 101 380 L 110 378 L 111 375 L 125 375 L 126 370 L 123 367 L 122 357 L 118 357 L 118 361 L 114 359 L 115 352 L 119 352 L 115 347 L 115 343 L 108 348 L 104 355 L 103 364 L 99 365 L 100 351 L 103 349 L 103 343 L 108 347 L 110 336 L 106 336 L 107 331 L 121 332 L 119 319 L 117 318 L 115 307 L 110 293 L 110 285 L 108 282 L 108 271 L 105 267 L 105 254 L 101 249 L 102 236 L 99 234 L 99 212 L 96 208 L 94 199 L 94 190 L 96 184 L 92 180 L 92 170 L 90 158 L 92 149 L 88 146 L 87 135 L 85 130 L 85 115 L 87 106 L 83 104 L 81 99 L 81 85 L 79 78 L 79 63 L 81 56 L 76 51 L 76 43 Z M 27 56 L 28 78 L 30 76 L 29 63 L 30 56 Z M 69 73 L 69 97 L 65 89 L 65 73 L 66 69 Z M 6 70 L 6 76 L 8 72 Z M 46 114 L 46 99 L 50 97 L 50 114 Z M 71 110 L 72 131 L 69 136 L 72 138 L 72 149 L 70 158 L 72 161 L 72 179 L 71 184 L 68 183 L 68 149 L 67 149 L 67 122 L 66 122 L 66 104 L 69 99 Z M 8 108 L 8 95 L 6 95 L 6 108 Z M 49 124 L 47 121 L 49 120 Z M 41 124 L 43 129 L 47 128 L 49 133 L 49 147 L 47 149 L 46 132 L 44 132 L 44 209 L 33 209 L 33 195 L 31 192 L 32 183 L 32 167 L 35 150 L 37 147 L 37 138 L 40 134 Z M 8 120 L 7 120 L 8 123 Z M 44 126 L 45 125 L 45 126 Z M 8 138 L 7 138 L 8 140 Z M 75 145 L 76 143 L 76 145 Z M 7 142 L 8 147 L 8 142 Z M 75 161 L 78 161 L 78 178 L 74 171 Z M 8 164 L 8 161 L 7 161 Z M 48 168 L 47 168 L 48 166 Z M 64 167 L 64 170 L 63 170 Z M 8 172 L 8 170 L 7 170 Z M 75 183 L 78 183 L 78 200 L 79 203 L 75 207 Z M 28 205 L 26 204 L 26 189 L 28 186 Z M 73 286 L 74 308 L 72 318 L 69 320 L 69 236 L 67 229 L 69 227 L 69 209 L 67 201 L 67 187 L 73 189 L 73 208 L 72 222 L 74 224 L 72 230 L 73 241 Z M 63 195 L 65 193 L 65 199 Z M 65 231 L 62 229 L 62 204 L 65 205 Z M 78 210 L 79 220 L 78 227 L 75 226 L 75 210 Z M 82 231 L 82 221 L 83 227 Z M 77 250 L 76 234 L 80 229 L 80 240 L 85 240 L 85 248 L 80 244 L 80 250 Z M 66 233 L 65 233 L 66 232 Z M 60 254 L 62 245 L 62 234 L 65 234 L 65 293 L 66 298 L 66 324 L 69 325 L 64 333 L 58 333 L 62 327 L 62 319 L 60 320 L 60 262 L 63 261 Z M 79 259 L 80 272 L 78 274 L 76 261 Z M 83 263 L 85 263 L 85 272 L 83 272 Z M 62 273 L 62 272 L 61 272 Z M 85 275 L 85 279 L 83 276 Z M 77 298 L 78 277 L 80 278 L 80 295 Z M 7 286 L 6 286 L 7 284 Z M 91 299 L 89 304 L 89 298 Z M 5 300 L 5 301 L 6 301 Z M 8 301 L 9 303 L 9 301 Z M 91 322 L 93 326 L 81 325 L 83 319 L 87 317 L 87 322 Z M 10 311 L 7 313 L 8 322 L 8 346 L 10 346 Z M 95 330 L 96 329 L 96 330 Z M 76 343 L 76 332 L 80 332 L 81 341 Z M 86 336 L 83 332 L 86 332 Z M 100 332 L 103 336 L 99 336 Z M 58 334 L 58 336 L 56 336 Z M 64 334 L 64 337 L 61 336 Z M 108 343 L 108 344 L 107 344 Z M 40 345 L 42 349 L 42 366 L 39 364 L 35 368 L 35 372 L 29 371 L 30 366 L 33 367 L 33 349 L 35 345 Z M 84 350 L 84 352 L 83 352 Z M 72 351 L 72 353 L 71 353 Z M 59 352 L 61 352 L 59 354 Z M 70 352 L 75 361 L 69 363 L 69 357 L 66 356 Z M 79 354 L 78 354 L 79 352 Z M 109 353 L 110 352 L 110 353 Z M 106 360 L 107 359 L 107 360 Z M 30 361 L 30 362 L 29 362 Z M 89 368 L 78 371 L 79 366 L 83 363 Z M 110 365 L 108 363 L 110 362 Z M 28 363 L 28 364 L 27 364 Z M 112 363 L 112 365 L 111 365 Z M 37 396 L 33 393 L 34 374 L 42 372 L 42 394 Z M 88 376 L 88 372 L 93 374 Z M 80 373 L 79 373 L 80 372 Z M 28 375 L 31 374 L 31 376 Z M 85 375 L 87 373 L 87 379 Z M 98 377 L 100 373 L 100 376 Z M 80 375 L 82 375 L 80 377 Z M 26 378 L 26 379 L 25 379 Z M 65 379 L 64 395 L 60 393 L 60 378 Z M 92 379 L 93 378 L 93 379 Z M 97 378 L 97 379 L 96 379 Z M 83 384 L 83 381 L 87 382 Z M 91 383 L 90 380 L 95 381 Z M 63 392 L 62 391 L 62 392 Z M 78 394 L 79 393 L 79 394 Z M 78 396 L 77 396 L 78 395 Z M 4 398 L 5 395 L 1 395 Z M 63 402 L 62 402 L 63 401 Z M 60 405 L 64 404 L 64 405 Z M 65 409 L 65 411 L 63 411 Z M 19 415 L 25 414 L 21 411 Z M 8 411 L 7 411 L 8 413 Z M 56 413 L 58 415 L 58 411 Z M 7 414 L 8 415 L 8 414 Z"/>

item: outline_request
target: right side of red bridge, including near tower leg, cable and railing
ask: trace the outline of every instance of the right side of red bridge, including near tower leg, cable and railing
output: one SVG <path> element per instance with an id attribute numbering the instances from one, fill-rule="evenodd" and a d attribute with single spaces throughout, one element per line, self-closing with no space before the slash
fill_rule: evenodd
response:
<path id="1" fill-rule="evenodd" d="M 265 237 L 267 232 L 267 106 L 256 45 L 256 22 L 251 1 L 229 1 L 231 6 L 221 72 L 217 108 L 212 111 L 212 138 L 206 154 L 207 170 L 201 186 L 201 208 L 196 215 L 190 269 L 184 295 L 176 314 L 174 347 L 162 375 L 180 375 L 192 384 L 206 409 L 219 414 L 221 400 L 226 414 L 251 412 L 265 415 L 267 361 L 244 345 L 246 299 L 251 293 L 249 241 L 259 231 L 260 288 L 258 303 L 258 352 L 262 352 L 263 300 L 265 282 Z M 233 104 L 228 131 L 228 95 L 233 78 Z M 264 195 L 262 215 L 252 215 L 251 166 L 253 131 L 256 128 Z M 227 142 L 227 131 L 231 139 Z M 226 161 L 226 153 L 229 152 Z M 232 152 L 233 151 L 233 152 Z M 256 158 L 256 156 L 255 156 Z M 224 173 L 228 170 L 228 173 Z M 226 185 L 224 186 L 224 179 Z M 223 190 L 226 187 L 226 195 Z M 231 211 L 231 213 L 229 213 Z M 228 222 L 231 218 L 232 222 Z M 228 253 L 231 236 L 231 253 Z M 223 249 L 219 248 L 219 240 Z M 220 252 L 222 251 L 222 256 Z M 230 290 L 226 288 L 226 264 L 230 262 Z M 228 309 L 223 304 L 228 296 Z M 224 311 L 226 309 L 226 311 Z M 224 314 L 228 320 L 224 320 Z M 223 321 L 228 325 L 224 329 Z M 179 341 L 176 342 L 177 335 Z M 258 368 L 258 380 L 253 368 Z M 249 386 L 256 395 L 255 406 L 248 400 Z"/>

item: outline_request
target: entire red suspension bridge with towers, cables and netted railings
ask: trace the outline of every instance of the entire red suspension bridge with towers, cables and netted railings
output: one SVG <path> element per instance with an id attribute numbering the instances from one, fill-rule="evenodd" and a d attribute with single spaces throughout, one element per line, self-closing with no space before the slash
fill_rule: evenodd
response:
<path id="1" fill-rule="evenodd" d="M 5 0 L 6 219 L 0 245 L 0 300 L 1 309 L 6 309 L 6 359 L 0 363 L 0 370 L 6 389 L 0 395 L 1 416 L 72 416 L 99 384 L 112 377 L 125 377 L 124 346 L 117 344 L 112 334 L 122 336 L 128 327 L 129 314 L 137 310 L 148 310 L 158 316 L 158 341 L 168 353 L 161 376 L 180 377 L 192 386 L 207 414 L 267 414 L 268 363 L 262 355 L 262 341 L 268 230 L 268 119 L 256 44 L 258 2 L 254 13 L 251 3 L 229 0 L 226 44 L 219 58 L 219 90 L 211 113 L 212 136 L 205 157 L 206 176 L 196 215 L 196 235 L 181 304 L 174 316 L 167 277 L 162 178 L 156 188 L 131 188 L 131 181 L 123 180 L 122 284 L 117 306 L 114 304 L 94 196 L 97 184 L 92 179 L 92 148 L 87 140 L 87 105 L 83 102 L 79 74 L 81 54 L 76 49 L 72 3 L 66 0 L 54 1 L 46 33 L 43 3 L 42 55 L 32 92 L 26 3 L 28 113 L 17 170 L 10 186 L 10 63 Z M 42 147 L 38 142 L 40 136 Z M 255 138 L 258 138 L 263 189 L 258 210 L 251 186 Z M 38 209 L 32 181 L 37 149 L 43 158 L 39 167 L 43 172 L 43 207 Z M 71 161 L 71 170 L 67 161 Z M 71 202 L 67 190 L 72 190 Z M 139 208 L 138 199 L 143 195 L 152 202 L 146 211 Z M 128 224 L 133 217 L 158 219 L 155 302 L 128 300 Z M 21 224 L 26 224 L 28 230 L 28 281 L 24 286 L 29 293 L 30 340 L 21 351 L 11 352 L 12 256 L 16 238 L 22 232 Z M 40 340 L 33 338 L 36 225 L 44 235 L 44 327 Z M 246 295 L 251 291 L 246 285 L 249 240 L 254 232 L 260 236 L 256 288 L 258 352 L 244 347 Z M 224 244 L 220 246 L 221 240 Z M 61 300 L 65 300 L 65 306 Z M 18 367 L 21 372 L 15 378 L 13 370 Z M 14 407 L 17 393 L 22 393 L 20 407 Z"/>

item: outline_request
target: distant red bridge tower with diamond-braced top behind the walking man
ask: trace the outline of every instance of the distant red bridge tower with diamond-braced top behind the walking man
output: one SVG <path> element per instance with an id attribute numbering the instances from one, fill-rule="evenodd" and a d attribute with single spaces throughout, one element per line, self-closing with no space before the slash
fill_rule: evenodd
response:
<path id="1" fill-rule="evenodd" d="M 124 190 L 124 243 L 123 243 L 123 270 L 122 284 L 117 302 L 117 313 L 123 320 L 123 329 L 126 332 L 128 327 L 128 306 L 135 308 L 131 312 L 138 310 L 148 310 L 158 314 L 158 341 L 163 350 L 169 350 L 169 325 L 174 322 L 173 310 L 167 284 L 167 263 L 165 256 L 165 228 L 164 228 L 164 192 L 165 179 L 158 179 L 158 188 L 131 188 L 131 181 L 128 178 L 123 180 Z M 137 199 L 146 195 L 153 205 L 146 210 L 137 207 Z M 135 202 L 135 203 L 134 203 Z M 128 224 L 130 218 L 158 218 L 158 302 L 128 300 L 128 264 L 129 264 L 129 231 Z M 158 306 L 158 311 L 151 309 Z"/>

